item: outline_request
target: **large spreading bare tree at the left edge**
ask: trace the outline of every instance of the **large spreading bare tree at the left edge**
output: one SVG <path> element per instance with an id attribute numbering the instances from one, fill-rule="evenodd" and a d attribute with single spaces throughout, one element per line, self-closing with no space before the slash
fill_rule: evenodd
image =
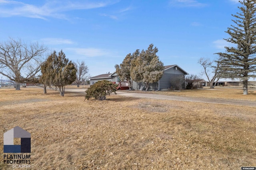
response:
<path id="1" fill-rule="evenodd" d="M 21 39 L 0 43 L 0 74 L 15 81 L 16 90 L 20 90 L 20 83 L 30 82 L 40 71 L 46 50 L 43 45 L 28 45 Z"/>

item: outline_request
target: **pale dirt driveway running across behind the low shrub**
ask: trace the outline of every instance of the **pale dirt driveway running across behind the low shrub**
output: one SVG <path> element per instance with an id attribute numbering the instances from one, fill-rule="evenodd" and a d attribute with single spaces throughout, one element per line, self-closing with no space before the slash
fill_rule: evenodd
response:
<path id="1" fill-rule="evenodd" d="M 68 92 L 79 92 L 85 93 L 85 89 L 66 89 Z M 228 100 L 228 99 L 214 99 L 214 98 L 196 98 L 196 97 L 184 97 L 184 96 L 167 96 L 161 94 L 142 94 L 142 93 L 129 93 L 124 91 L 117 91 L 118 95 L 134 98 L 152 98 L 152 99 L 162 99 L 162 100 L 178 100 L 186 102 L 200 102 L 200 103 L 216 103 L 216 104 L 232 104 L 232 105 L 242 105 L 242 106 L 254 106 L 256 107 L 256 102 L 248 100 Z"/>

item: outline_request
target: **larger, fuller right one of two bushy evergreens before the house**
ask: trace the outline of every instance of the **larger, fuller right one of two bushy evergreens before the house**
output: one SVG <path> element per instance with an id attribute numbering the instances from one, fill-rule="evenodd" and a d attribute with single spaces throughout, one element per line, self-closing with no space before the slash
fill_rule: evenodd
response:
<path id="1" fill-rule="evenodd" d="M 131 63 L 131 77 L 136 82 L 143 82 L 146 86 L 146 91 L 150 83 L 157 82 L 164 74 L 164 64 L 159 61 L 156 55 L 158 49 L 150 44 L 146 51 L 136 50 L 134 59 Z"/>

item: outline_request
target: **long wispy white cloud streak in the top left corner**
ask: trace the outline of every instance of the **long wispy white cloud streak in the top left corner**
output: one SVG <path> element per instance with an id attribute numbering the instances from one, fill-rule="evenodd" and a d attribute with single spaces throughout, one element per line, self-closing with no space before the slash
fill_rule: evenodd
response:
<path id="1" fill-rule="evenodd" d="M 42 6 L 36 6 L 33 4 L 26 4 L 19 1 L 12 0 L 0 0 L 0 17 L 12 17 L 12 16 L 23 16 L 29 18 L 60 18 L 66 19 L 67 17 L 64 12 L 71 10 L 88 10 L 93 8 L 101 8 L 114 4 L 115 2 L 110 1 L 66 1 L 66 0 L 55 0 L 47 1 Z"/>

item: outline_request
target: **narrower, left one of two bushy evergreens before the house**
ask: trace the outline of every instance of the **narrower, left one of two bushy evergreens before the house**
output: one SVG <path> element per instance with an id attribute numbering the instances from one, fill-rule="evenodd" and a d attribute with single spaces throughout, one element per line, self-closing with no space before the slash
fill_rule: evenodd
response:
<path id="1" fill-rule="evenodd" d="M 118 74 L 118 76 L 120 76 L 120 79 L 122 81 L 126 80 L 128 82 L 128 86 L 130 90 L 132 89 L 132 78 L 131 78 L 130 69 L 131 69 L 131 61 L 133 58 L 134 56 L 131 55 L 131 53 L 129 53 L 128 55 L 126 55 L 126 57 L 124 58 L 120 66 L 118 64 L 115 65 L 116 73 Z"/>

